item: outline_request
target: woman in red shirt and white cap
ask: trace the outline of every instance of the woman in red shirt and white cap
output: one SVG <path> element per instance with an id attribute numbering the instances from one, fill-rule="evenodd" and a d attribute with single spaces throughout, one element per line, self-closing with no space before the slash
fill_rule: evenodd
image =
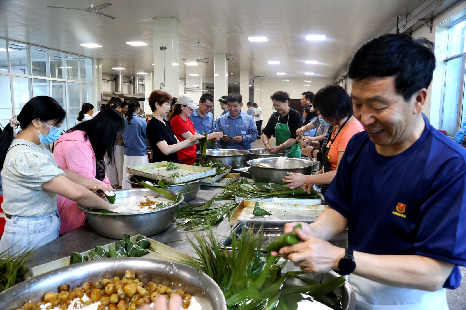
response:
<path id="1" fill-rule="evenodd" d="M 197 109 L 199 106 L 194 103 L 188 95 L 181 95 L 175 105 L 173 105 L 173 112 L 168 116 L 168 122 L 171 125 L 173 133 L 178 138 L 178 141 L 189 139 L 192 135 L 197 134 L 192 124 L 191 116 L 192 110 Z M 196 145 L 191 145 L 185 149 L 177 152 L 178 161 L 180 164 L 192 165 L 196 161 Z"/>

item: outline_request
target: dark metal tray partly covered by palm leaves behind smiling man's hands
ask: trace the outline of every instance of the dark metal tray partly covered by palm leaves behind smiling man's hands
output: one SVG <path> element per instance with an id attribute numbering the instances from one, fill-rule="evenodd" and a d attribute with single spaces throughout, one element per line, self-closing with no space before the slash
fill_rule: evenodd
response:
<path id="1" fill-rule="evenodd" d="M 269 244 L 270 241 L 274 240 L 276 237 L 280 236 L 284 231 L 285 231 L 285 224 L 291 223 L 294 221 L 289 221 L 289 220 L 274 220 L 274 221 L 267 221 L 267 222 L 260 222 L 260 221 L 242 221 L 236 223 L 236 225 L 233 227 L 233 231 L 238 236 L 241 236 L 243 228 L 251 228 L 254 230 L 254 232 L 259 231 L 259 229 L 262 227 L 263 229 L 263 235 L 262 235 L 262 246 L 261 250 L 267 252 L 267 245 Z M 301 220 L 301 222 L 304 223 L 312 223 L 314 220 Z M 343 231 L 340 235 L 335 237 L 334 239 L 329 241 L 331 244 L 342 247 L 342 248 L 347 248 L 348 247 L 348 231 Z M 231 247 L 231 238 L 227 236 L 224 238 L 222 241 L 220 241 L 221 244 L 226 246 L 228 250 L 232 250 Z"/>

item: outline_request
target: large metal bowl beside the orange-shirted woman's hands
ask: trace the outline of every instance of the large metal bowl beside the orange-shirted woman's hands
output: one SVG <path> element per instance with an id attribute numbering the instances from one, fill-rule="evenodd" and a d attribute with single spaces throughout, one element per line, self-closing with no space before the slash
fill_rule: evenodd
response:
<path id="1" fill-rule="evenodd" d="M 276 157 L 259 158 L 247 161 L 251 166 L 254 183 L 283 183 L 281 180 L 285 178 L 288 172 L 311 174 L 312 166 L 315 162 L 302 158 L 287 158 L 285 161 L 286 168 L 275 168 L 277 162 Z M 271 167 L 256 166 L 256 164 L 268 164 Z"/>

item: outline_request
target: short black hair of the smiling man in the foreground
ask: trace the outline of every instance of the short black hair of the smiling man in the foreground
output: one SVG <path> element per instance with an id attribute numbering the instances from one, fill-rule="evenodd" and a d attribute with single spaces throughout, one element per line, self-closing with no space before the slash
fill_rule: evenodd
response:
<path id="1" fill-rule="evenodd" d="M 409 101 L 412 95 L 429 87 L 435 69 L 434 44 L 407 34 L 384 34 L 364 43 L 353 55 L 348 77 L 395 76 L 397 93 Z"/>

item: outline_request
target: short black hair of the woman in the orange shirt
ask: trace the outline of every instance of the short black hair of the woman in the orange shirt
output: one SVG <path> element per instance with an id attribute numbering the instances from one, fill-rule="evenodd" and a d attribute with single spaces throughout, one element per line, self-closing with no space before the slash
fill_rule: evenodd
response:
<path id="1" fill-rule="evenodd" d="M 322 117 L 336 123 L 353 115 L 353 101 L 342 86 L 327 85 L 314 95 L 312 105 Z"/>

